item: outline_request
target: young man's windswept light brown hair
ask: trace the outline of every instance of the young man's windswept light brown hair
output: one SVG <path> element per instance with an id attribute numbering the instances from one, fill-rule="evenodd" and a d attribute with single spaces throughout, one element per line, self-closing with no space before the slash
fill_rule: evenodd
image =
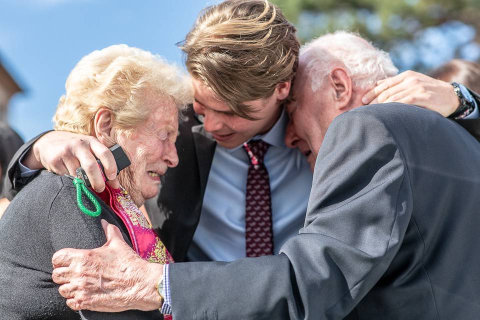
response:
<path id="1" fill-rule="evenodd" d="M 193 76 L 238 116 L 245 104 L 291 81 L 298 64 L 295 27 L 266 0 L 226 0 L 205 8 L 180 43 Z"/>

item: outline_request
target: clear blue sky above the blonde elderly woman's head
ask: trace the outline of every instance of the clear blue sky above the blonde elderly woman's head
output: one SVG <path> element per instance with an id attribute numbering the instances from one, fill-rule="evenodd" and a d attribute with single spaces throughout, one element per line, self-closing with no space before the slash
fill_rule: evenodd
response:
<path id="1" fill-rule="evenodd" d="M 10 100 L 8 120 L 24 139 L 51 117 L 75 63 L 126 43 L 181 65 L 181 41 L 198 12 L 216 0 L 0 0 L 0 59 L 26 89 Z"/>

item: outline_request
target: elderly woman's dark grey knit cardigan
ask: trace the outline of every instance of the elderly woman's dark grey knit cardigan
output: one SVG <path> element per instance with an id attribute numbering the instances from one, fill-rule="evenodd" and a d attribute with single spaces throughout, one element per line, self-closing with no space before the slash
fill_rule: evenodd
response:
<path id="1" fill-rule="evenodd" d="M 91 217 L 78 209 L 75 194 L 70 178 L 42 171 L 15 196 L 1 217 L 0 319 L 80 319 L 51 279 L 51 257 L 61 248 L 103 245 L 101 218 L 117 225 L 131 246 L 121 220 L 102 200 L 98 198 L 101 214 Z M 84 198 L 84 203 L 88 202 Z M 162 318 L 158 311 L 82 313 L 87 319 Z"/>

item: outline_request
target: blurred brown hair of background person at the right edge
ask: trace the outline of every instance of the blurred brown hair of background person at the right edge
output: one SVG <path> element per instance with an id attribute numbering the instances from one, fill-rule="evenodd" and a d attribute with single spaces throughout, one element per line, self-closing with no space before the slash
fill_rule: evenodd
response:
<path id="1" fill-rule="evenodd" d="M 431 70 L 429 75 L 443 81 L 458 82 L 475 92 L 480 92 L 480 64 L 478 63 L 452 59 Z"/>

